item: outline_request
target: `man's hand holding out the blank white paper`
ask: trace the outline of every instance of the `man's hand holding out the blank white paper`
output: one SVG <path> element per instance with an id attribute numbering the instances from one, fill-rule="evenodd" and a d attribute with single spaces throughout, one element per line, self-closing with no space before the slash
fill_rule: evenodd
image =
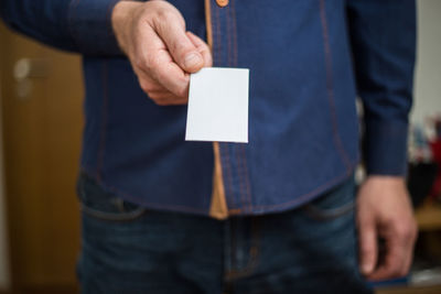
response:
<path id="1" fill-rule="evenodd" d="M 212 54 L 204 41 L 185 32 L 178 9 L 166 1 L 120 1 L 111 22 L 142 90 L 158 105 L 186 104 L 189 73 L 212 66 Z"/>

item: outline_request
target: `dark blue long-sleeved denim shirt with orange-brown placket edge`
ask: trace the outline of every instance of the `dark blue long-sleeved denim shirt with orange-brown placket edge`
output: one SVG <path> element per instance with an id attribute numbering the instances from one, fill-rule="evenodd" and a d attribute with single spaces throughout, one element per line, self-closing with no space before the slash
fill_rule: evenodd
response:
<path id="1" fill-rule="evenodd" d="M 406 173 L 413 0 L 169 1 L 209 41 L 215 66 L 250 69 L 248 144 L 184 141 L 186 106 L 149 99 L 118 47 L 116 2 L 0 2 L 11 28 L 83 55 L 80 164 L 104 189 L 217 218 L 282 211 L 352 176 L 361 127 L 367 173 Z"/>

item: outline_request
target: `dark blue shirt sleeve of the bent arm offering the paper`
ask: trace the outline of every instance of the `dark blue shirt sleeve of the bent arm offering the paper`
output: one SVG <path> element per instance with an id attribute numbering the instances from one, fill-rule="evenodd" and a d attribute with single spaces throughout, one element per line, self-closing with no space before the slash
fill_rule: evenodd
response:
<path id="1" fill-rule="evenodd" d="M 47 45 L 84 55 L 121 55 L 111 28 L 119 0 L 1 0 L 11 29 Z"/>

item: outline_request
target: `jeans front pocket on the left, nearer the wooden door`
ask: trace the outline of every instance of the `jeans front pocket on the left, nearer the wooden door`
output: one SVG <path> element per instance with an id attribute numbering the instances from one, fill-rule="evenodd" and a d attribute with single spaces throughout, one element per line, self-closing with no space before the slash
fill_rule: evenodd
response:
<path id="1" fill-rule="evenodd" d="M 104 190 L 94 178 L 84 173 L 78 178 L 77 195 L 82 211 L 101 220 L 135 220 L 147 210 L 144 207 Z"/>

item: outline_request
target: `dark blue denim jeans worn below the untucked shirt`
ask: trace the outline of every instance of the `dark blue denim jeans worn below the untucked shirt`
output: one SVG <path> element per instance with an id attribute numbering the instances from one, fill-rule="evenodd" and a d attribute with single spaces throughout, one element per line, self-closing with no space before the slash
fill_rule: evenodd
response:
<path id="1" fill-rule="evenodd" d="M 82 293 L 372 293 L 357 268 L 354 182 L 283 214 L 148 210 L 78 182 Z"/>

